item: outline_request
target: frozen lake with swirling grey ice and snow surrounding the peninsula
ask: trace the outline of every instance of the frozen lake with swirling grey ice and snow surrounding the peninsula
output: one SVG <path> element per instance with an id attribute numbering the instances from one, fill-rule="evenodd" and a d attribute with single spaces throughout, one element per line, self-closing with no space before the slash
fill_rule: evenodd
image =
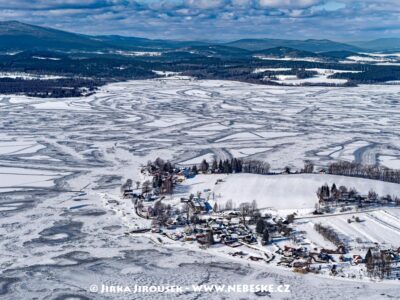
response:
<path id="1" fill-rule="evenodd" d="M 390 167 L 400 158 L 399 96 L 398 86 L 272 87 L 183 77 L 114 83 L 74 99 L 1 96 L 1 298 L 25 299 L 29 291 L 38 299 L 109 299 L 87 291 L 102 282 L 287 283 L 291 299 L 332 299 L 338 289 L 341 299 L 398 297 L 394 284 L 301 276 L 160 246 L 126 234 L 129 216 L 107 209 L 104 199 L 118 198 L 121 183 L 139 180 L 139 166 L 158 156 L 187 164 L 241 156 L 273 169 L 340 159 Z M 394 237 L 392 229 L 387 238 Z"/>

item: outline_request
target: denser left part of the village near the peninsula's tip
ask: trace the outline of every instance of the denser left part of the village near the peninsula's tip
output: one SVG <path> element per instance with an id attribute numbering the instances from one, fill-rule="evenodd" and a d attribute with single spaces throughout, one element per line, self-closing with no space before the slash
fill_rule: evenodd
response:
<path id="1" fill-rule="evenodd" d="M 133 193 L 127 184 L 123 195 L 134 201 L 139 216 L 152 220 L 152 232 L 175 241 L 196 241 L 201 246 L 223 244 L 238 247 L 256 244 L 258 238 L 263 238 L 254 230 L 260 216 L 245 215 L 240 210 L 219 210 L 210 190 L 180 198 L 179 203 L 170 207 L 168 201 L 164 201 L 165 194 L 172 193 L 176 184 L 195 176 L 192 169 L 172 168 L 159 160 L 149 163 L 142 173 L 152 180 L 142 183 L 141 193 Z M 207 193 L 208 197 L 204 197 Z M 287 232 L 287 226 L 281 219 L 265 220 L 265 229 L 271 234 Z"/>

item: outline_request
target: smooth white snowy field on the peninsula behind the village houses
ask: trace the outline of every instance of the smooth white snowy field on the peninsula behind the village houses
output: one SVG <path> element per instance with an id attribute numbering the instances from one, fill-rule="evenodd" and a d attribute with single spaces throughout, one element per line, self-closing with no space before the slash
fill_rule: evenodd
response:
<path id="1" fill-rule="evenodd" d="M 218 179 L 223 182 L 215 184 Z M 324 184 L 355 188 L 361 195 L 373 189 L 379 195 L 400 197 L 400 185 L 377 180 L 349 178 L 322 174 L 255 175 L 255 174 L 209 174 L 188 179 L 182 186 L 186 193 L 208 192 L 217 204 L 223 206 L 228 200 L 238 207 L 240 203 L 256 200 L 259 209 L 271 208 L 283 211 L 286 216 L 302 214 L 315 209 L 316 191 Z"/>

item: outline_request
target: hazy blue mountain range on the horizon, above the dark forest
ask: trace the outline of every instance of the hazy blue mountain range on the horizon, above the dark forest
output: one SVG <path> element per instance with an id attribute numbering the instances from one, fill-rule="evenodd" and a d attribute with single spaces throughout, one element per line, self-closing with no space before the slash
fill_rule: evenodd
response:
<path id="1" fill-rule="evenodd" d="M 225 52 L 230 56 L 271 48 L 291 48 L 314 53 L 400 51 L 400 39 L 378 39 L 352 43 L 331 40 L 242 39 L 229 43 L 199 41 L 152 40 L 118 35 L 89 36 L 29 25 L 18 21 L 0 22 L 0 50 L 60 50 L 60 51 L 157 51 L 190 48 L 193 52 Z"/>

